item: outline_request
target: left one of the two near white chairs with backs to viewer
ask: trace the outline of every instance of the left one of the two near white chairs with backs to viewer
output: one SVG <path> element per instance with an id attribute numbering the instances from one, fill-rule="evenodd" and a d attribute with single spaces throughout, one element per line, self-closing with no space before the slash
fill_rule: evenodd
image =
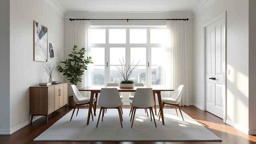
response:
<path id="1" fill-rule="evenodd" d="M 101 88 L 101 95 L 99 97 L 98 105 L 101 106 L 101 109 L 100 109 L 96 128 L 98 127 L 98 124 L 99 124 L 101 112 L 103 111 L 102 120 L 101 120 L 103 121 L 104 110 L 107 110 L 109 108 L 115 108 L 118 110 L 121 127 L 123 128 L 123 124 L 122 124 L 123 118 L 121 114 L 121 106 L 123 105 L 123 103 L 120 99 L 117 88 Z"/>

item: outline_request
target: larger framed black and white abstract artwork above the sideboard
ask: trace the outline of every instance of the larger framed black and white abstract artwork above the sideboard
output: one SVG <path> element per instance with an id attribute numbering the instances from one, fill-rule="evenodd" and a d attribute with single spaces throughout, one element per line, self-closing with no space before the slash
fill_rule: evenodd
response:
<path id="1" fill-rule="evenodd" d="M 47 62 L 48 29 L 34 21 L 34 61 Z"/>

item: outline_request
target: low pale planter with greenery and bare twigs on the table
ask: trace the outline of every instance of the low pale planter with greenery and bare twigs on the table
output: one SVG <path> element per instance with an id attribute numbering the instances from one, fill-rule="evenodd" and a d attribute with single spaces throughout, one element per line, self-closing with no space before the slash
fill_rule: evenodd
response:
<path id="1" fill-rule="evenodd" d="M 119 87 L 120 88 L 133 88 L 134 87 L 134 82 L 132 80 L 129 80 L 129 78 L 131 77 L 131 74 L 133 73 L 133 70 L 135 68 L 137 68 L 139 62 L 137 62 L 137 64 L 133 64 L 134 61 L 131 64 L 125 64 L 125 61 L 123 60 L 123 62 L 121 62 L 121 60 L 119 60 L 119 62 L 121 63 L 121 67 L 116 66 L 116 68 L 118 69 L 118 73 L 123 77 L 124 80 L 119 82 Z"/>

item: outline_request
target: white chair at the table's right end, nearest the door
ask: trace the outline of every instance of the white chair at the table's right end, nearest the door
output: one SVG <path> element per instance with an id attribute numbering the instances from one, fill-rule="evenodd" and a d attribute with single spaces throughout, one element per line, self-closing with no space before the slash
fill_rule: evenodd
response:
<path id="1" fill-rule="evenodd" d="M 180 110 L 180 107 L 179 107 L 179 104 L 178 104 L 180 102 L 180 100 L 181 100 L 183 88 L 184 88 L 184 85 L 181 84 L 177 88 L 177 90 L 174 92 L 173 96 L 167 97 L 167 98 L 161 98 L 161 100 L 162 100 L 162 106 L 164 106 L 165 104 L 174 106 L 175 110 L 176 110 L 176 114 L 177 114 L 177 116 L 179 116 L 178 112 L 177 112 L 177 108 L 176 108 L 176 106 L 177 106 L 179 108 L 179 112 L 181 114 L 182 120 L 184 121 L 183 115 L 181 113 L 181 110 Z M 159 121 L 160 117 L 161 117 L 160 110 L 158 112 L 158 115 L 159 115 L 159 119 L 158 119 L 158 121 Z"/>

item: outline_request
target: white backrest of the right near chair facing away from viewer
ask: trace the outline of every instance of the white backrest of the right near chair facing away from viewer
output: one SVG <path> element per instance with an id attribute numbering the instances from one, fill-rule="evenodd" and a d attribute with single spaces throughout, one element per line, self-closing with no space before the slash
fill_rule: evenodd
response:
<path id="1" fill-rule="evenodd" d="M 131 102 L 137 108 L 149 108 L 155 105 L 152 88 L 137 88 Z"/>

